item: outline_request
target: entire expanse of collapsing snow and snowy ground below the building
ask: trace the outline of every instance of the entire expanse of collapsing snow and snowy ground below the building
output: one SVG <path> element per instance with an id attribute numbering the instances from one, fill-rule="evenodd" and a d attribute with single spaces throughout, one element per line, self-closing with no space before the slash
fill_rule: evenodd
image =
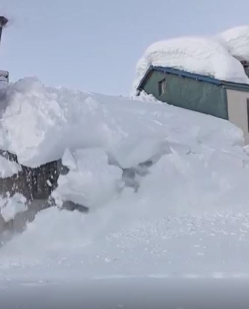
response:
<path id="1" fill-rule="evenodd" d="M 179 293 L 175 301 L 187 303 L 197 286 L 196 299 L 216 287 L 216 301 L 229 294 L 226 308 L 236 297 L 249 306 L 249 156 L 239 129 L 151 98 L 75 93 L 38 80 L 1 93 L 1 147 L 31 166 L 63 157 L 70 172 L 59 178 L 58 204 L 70 197 L 90 208 L 43 210 L 2 243 L 4 308 L 27 308 L 29 293 L 36 302 L 46 295 L 40 308 L 55 298 L 61 308 L 67 300 L 82 308 L 93 291 L 102 305 L 108 296 L 113 308 L 133 308 L 127 289 L 172 302 Z M 135 176 L 122 178 L 126 169 Z"/>

